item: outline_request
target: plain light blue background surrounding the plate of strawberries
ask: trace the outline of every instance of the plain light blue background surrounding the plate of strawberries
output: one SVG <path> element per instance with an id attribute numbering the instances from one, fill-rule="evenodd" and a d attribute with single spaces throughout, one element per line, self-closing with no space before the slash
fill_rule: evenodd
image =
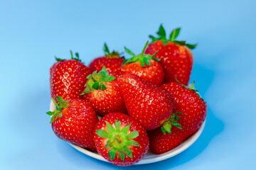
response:
<path id="1" fill-rule="evenodd" d="M 208 104 L 206 128 L 176 157 L 124 169 L 254 169 L 256 1 L 0 1 L 0 169 L 121 169 L 53 134 L 49 69 L 102 45 L 140 52 L 163 23 L 198 42 L 191 81 Z"/>

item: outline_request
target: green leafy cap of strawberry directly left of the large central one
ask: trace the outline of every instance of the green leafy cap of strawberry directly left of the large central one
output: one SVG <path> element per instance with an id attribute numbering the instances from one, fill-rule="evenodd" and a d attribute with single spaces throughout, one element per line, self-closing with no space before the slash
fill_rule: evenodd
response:
<path id="1" fill-rule="evenodd" d="M 82 92 L 80 95 L 90 94 L 92 91 L 95 90 L 105 90 L 107 86 L 104 84 L 105 82 L 110 82 L 115 79 L 115 77 L 110 76 L 110 73 L 107 72 L 106 67 L 103 66 L 100 72 L 92 72 L 89 76 L 86 77 L 87 82 L 85 84 L 86 88 L 85 91 Z"/>

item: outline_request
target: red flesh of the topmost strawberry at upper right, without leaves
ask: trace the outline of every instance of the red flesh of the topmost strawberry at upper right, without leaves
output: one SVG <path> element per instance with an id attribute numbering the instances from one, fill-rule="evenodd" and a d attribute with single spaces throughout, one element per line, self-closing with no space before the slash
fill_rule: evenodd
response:
<path id="1" fill-rule="evenodd" d="M 163 45 L 162 40 L 156 40 L 149 44 L 145 53 L 153 55 L 155 52 L 157 52 L 155 57 L 161 59 L 160 63 L 164 68 L 164 82 L 173 82 L 178 79 L 181 84 L 187 86 L 193 67 L 191 50 L 185 45 L 174 42 Z"/>

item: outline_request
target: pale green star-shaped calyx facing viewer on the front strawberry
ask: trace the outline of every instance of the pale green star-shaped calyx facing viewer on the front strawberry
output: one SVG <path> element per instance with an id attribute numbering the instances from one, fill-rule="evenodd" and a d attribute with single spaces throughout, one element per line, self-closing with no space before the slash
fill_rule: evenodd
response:
<path id="1" fill-rule="evenodd" d="M 120 120 L 114 120 L 114 125 L 110 125 L 107 121 L 106 130 L 96 130 L 97 135 L 100 137 L 106 138 L 107 144 L 105 145 L 106 149 L 109 149 L 108 155 L 110 160 L 113 160 L 118 154 L 119 158 L 124 162 L 125 154 L 128 157 L 133 158 L 132 150 L 129 149 L 129 146 L 141 147 L 139 143 L 135 140 L 132 140 L 139 136 L 137 130 L 130 132 L 130 127 L 132 123 L 125 125 L 121 129 Z"/>

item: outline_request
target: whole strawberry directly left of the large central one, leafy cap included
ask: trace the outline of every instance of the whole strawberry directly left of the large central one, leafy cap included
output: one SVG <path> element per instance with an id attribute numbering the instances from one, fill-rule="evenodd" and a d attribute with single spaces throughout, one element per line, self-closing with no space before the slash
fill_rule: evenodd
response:
<path id="1" fill-rule="evenodd" d="M 126 113 L 124 100 L 119 90 L 116 75 L 106 71 L 103 66 L 100 72 L 93 72 L 87 79 L 83 98 L 88 101 L 98 115 L 110 112 Z"/>

